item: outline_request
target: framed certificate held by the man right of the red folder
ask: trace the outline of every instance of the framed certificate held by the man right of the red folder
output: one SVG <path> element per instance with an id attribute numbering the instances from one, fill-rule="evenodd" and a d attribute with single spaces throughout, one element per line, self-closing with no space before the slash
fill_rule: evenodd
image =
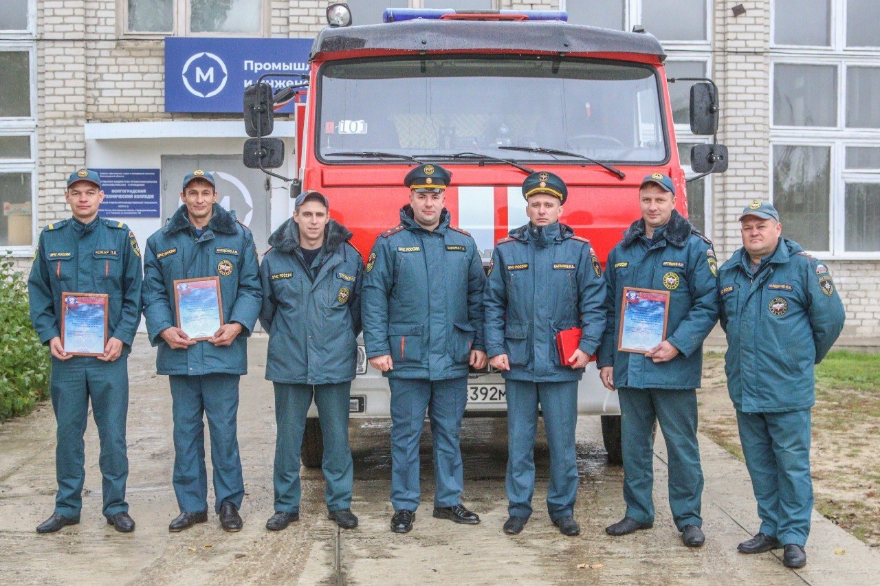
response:
<path id="1" fill-rule="evenodd" d="M 617 349 L 645 354 L 666 339 L 669 291 L 623 288 Z"/>

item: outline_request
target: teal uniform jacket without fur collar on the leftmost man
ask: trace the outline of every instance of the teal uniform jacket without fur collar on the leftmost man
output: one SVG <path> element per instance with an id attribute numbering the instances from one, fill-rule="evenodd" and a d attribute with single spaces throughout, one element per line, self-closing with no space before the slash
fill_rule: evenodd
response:
<path id="1" fill-rule="evenodd" d="M 50 223 L 27 282 L 33 329 L 43 344 L 61 336 L 62 292 L 106 293 L 107 337 L 121 340 L 128 354 L 141 322 L 142 282 L 141 251 L 124 223 L 101 217 Z"/>

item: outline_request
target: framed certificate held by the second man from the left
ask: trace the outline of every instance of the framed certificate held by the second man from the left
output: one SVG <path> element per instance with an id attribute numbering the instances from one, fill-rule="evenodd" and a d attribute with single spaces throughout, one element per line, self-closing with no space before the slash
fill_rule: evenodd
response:
<path id="1" fill-rule="evenodd" d="M 190 340 L 208 340 L 223 326 L 220 277 L 179 279 L 174 282 L 177 326 Z"/>

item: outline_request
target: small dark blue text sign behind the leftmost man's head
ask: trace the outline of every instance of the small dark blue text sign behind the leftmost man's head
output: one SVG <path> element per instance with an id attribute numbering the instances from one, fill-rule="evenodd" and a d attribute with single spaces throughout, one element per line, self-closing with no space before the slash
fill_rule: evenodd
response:
<path id="1" fill-rule="evenodd" d="M 98 213 L 110 217 L 159 217 L 158 169 L 95 169 L 104 201 Z"/>

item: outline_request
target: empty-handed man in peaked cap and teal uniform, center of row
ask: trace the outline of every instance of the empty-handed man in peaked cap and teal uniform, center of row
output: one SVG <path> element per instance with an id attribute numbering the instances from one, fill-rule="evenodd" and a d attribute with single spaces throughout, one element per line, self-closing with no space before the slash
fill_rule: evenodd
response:
<path id="1" fill-rule="evenodd" d="M 486 366 L 483 273 L 471 235 L 450 224 L 450 173 L 419 165 L 407 173 L 400 224 L 376 238 L 363 279 L 363 340 L 370 365 L 388 377 L 392 416 L 392 531 L 413 528 L 419 438 L 425 410 L 434 439 L 434 516 L 477 524 L 461 503 L 458 436 L 468 365 Z"/>

